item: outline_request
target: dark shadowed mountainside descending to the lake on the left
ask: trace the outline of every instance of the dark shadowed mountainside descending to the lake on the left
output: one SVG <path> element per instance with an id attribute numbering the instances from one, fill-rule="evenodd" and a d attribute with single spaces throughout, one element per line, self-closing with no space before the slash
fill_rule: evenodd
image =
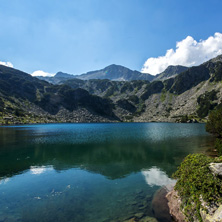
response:
<path id="1" fill-rule="evenodd" d="M 0 66 L 0 123 L 119 121 L 109 99 Z"/>

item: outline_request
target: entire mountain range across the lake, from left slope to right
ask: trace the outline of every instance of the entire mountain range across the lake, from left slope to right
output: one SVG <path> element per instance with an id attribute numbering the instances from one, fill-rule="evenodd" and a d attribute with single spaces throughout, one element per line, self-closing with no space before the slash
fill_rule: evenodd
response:
<path id="1" fill-rule="evenodd" d="M 59 72 L 43 81 L 0 65 L 0 124 L 204 121 L 222 104 L 222 55 L 150 76 L 111 65 L 83 79 Z"/>

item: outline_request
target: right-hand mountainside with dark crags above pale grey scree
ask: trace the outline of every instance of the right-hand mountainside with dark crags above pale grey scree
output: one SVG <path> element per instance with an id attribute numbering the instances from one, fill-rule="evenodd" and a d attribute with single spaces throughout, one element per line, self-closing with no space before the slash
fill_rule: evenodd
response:
<path id="1" fill-rule="evenodd" d="M 134 121 L 203 121 L 222 101 L 222 56 L 163 81 Z"/>

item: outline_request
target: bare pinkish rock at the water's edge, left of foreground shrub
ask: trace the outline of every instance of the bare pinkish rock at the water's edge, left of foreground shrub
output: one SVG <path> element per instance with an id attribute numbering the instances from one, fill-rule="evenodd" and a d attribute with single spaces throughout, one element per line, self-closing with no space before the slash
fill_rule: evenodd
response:
<path id="1" fill-rule="evenodd" d="M 166 195 L 168 206 L 170 208 L 170 214 L 177 222 L 185 222 L 185 216 L 180 210 L 181 199 L 178 196 L 177 191 L 172 190 Z"/>

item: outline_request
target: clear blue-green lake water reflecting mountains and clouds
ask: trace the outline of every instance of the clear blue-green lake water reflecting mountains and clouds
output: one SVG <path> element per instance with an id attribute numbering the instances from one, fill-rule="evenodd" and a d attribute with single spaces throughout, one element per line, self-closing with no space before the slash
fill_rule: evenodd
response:
<path id="1" fill-rule="evenodd" d="M 204 124 L 46 124 L 0 128 L 0 221 L 156 217 L 155 192 L 213 138 Z"/>

